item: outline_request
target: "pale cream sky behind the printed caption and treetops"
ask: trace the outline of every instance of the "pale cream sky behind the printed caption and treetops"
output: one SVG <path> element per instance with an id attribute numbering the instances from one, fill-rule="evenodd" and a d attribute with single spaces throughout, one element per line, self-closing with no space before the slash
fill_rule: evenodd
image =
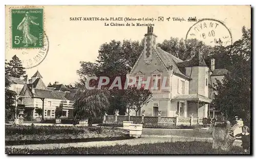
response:
<path id="1" fill-rule="evenodd" d="M 26 58 L 22 55 L 23 49 L 11 48 L 10 7 L 12 6 L 6 6 L 6 59 L 9 60 L 14 55 Z M 106 26 L 111 22 L 126 24 L 125 21 L 75 21 L 70 20 L 70 17 L 153 18 L 156 20 L 129 21 L 129 24 L 154 24 L 154 33 L 158 36 L 157 43 L 170 37 L 185 39 L 189 28 L 196 23 L 187 20 L 174 21 L 173 17 L 220 20 L 229 29 L 233 42 L 241 38 L 243 26 L 251 26 L 250 6 L 44 6 L 44 13 L 49 51 L 44 61 L 26 71 L 30 78 L 38 70 L 46 84 L 54 81 L 63 84 L 74 83 L 79 78 L 76 74 L 80 68 L 79 62 L 94 62 L 101 44 L 113 39 L 140 41 L 147 32 L 147 27 L 142 26 Z M 158 21 L 160 16 L 164 17 L 164 21 Z M 170 17 L 169 21 L 166 20 L 167 17 Z M 215 31 L 220 36 L 227 32 L 223 28 Z M 33 56 L 32 53 L 38 50 L 29 51 L 30 56 Z"/>

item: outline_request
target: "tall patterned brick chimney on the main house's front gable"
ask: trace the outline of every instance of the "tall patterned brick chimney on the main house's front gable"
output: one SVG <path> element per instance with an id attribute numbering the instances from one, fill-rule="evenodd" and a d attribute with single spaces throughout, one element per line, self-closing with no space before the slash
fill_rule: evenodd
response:
<path id="1" fill-rule="evenodd" d="M 156 49 L 156 35 L 153 33 L 153 27 L 147 27 L 144 44 L 144 59 L 152 58 L 152 48 Z"/>

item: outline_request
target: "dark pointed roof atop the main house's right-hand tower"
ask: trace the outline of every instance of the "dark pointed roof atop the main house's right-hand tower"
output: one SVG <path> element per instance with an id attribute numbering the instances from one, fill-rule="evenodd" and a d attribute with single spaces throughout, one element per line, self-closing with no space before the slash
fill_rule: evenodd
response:
<path id="1" fill-rule="evenodd" d="M 198 52 L 195 56 L 189 60 L 179 62 L 178 67 L 188 67 L 188 66 L 207 66 L 203 56 Z"/>

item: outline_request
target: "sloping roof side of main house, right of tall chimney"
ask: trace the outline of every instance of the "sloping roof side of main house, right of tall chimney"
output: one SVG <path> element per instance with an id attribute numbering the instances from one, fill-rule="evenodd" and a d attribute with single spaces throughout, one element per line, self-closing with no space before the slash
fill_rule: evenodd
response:
<path id="1" fill-rule="evenodd" d="M 156 47 L 155 53 L 159 56 L 159 58 L 162 60 L 162 62 L 164 63 L 164 65 L 168 68 L 169 66 L 173 66 L 173 71 L 178 74 L 181 75 L 185 78 L 190 79 L 189 77 L 187 77 L 186 75 L 184 75 L 180 69 L 177 66 L 177 62 L 182 62 L 181 59 L 173 56 L 172 54 L 169 54 L 165 51 L 163 51 L 161 48 Z"/>

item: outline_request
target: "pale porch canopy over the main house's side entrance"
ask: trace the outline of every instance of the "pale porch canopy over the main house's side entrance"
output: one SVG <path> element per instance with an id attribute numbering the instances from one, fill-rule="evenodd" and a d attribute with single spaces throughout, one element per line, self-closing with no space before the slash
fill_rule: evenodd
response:
<path id="1" fill-rule="evenodd" d="M 205 103 L 210 103 L 211 99 L 202 96 L 202 95 L 198 95 L 198 94 L 190 94 L 190 95 L 178 95 L 175 96 L 172 100 L 174 101 L 180 101 L 180 100 L 187 100 L 187 101 L 202 101 Z"/>

